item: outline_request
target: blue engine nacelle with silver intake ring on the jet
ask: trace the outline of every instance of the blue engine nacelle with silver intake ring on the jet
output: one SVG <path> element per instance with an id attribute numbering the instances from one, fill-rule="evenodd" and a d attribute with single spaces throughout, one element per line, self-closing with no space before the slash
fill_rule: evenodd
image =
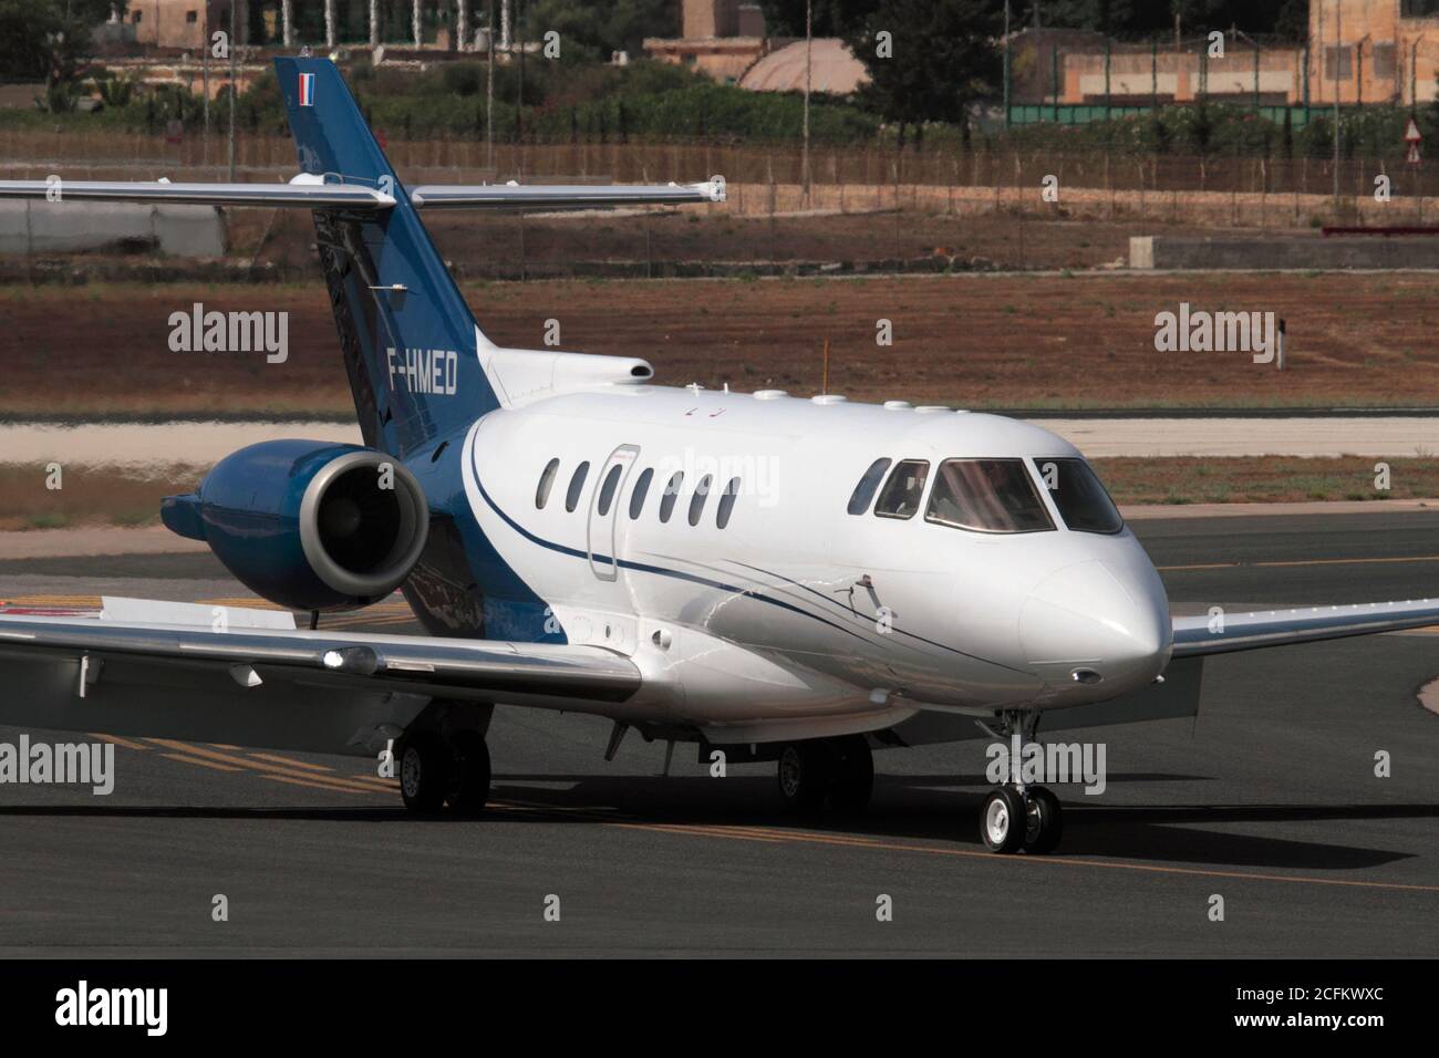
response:
<path id="1" fill-rule="evenodd" d="M 165 497 L 165 525 L 203 540 L 256 594 L 295 610 L 367 606 L 419 561 L 430 517 L 394 456 L 322 440 L 242 448 L 189 495 Z"/>

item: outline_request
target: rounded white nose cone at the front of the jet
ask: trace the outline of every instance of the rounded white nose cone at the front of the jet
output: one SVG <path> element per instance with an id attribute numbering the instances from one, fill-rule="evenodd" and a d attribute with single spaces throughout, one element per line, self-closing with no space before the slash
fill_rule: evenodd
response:
<path id="1" fill-rule="evenodd" d="M 1111 698 L 1164 669 L 1173 641 L 1168 602 L 1158 574 L 1145 566 L 1117 576 L 1105 561 L 1081 561 L 1030 593 L 1019 639 L 1053 689 L 1085 688 L 1085 698 Z"/>

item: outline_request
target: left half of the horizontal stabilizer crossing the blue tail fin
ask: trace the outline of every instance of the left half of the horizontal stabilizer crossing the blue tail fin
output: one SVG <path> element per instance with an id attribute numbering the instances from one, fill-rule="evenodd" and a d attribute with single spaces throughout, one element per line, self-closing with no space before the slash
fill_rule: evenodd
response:
<path id="1" fill-rule="evenodd" d="M 178 206 L 295 206 L 299 209 L 384 210 L 389 194 L 361 184 L 173 184 L 167 180 L 0 180 L 0 199 L 138 202 Z"/>

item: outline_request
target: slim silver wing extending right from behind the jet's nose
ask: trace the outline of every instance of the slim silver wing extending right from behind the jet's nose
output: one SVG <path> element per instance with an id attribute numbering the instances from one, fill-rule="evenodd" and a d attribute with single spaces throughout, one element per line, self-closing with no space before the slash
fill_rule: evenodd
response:
<path id="1" fill-rule="evenodd" d="M 1174 656 L 1261 651 L 1439 625 L 1439 599 L 1174 618 Z"/>

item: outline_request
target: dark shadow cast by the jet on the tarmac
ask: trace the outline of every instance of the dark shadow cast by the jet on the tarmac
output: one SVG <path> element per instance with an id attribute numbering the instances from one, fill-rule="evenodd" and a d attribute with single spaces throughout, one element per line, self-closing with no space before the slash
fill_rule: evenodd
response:
<path id="1" fill-rule="evenodd" d="M 1111 782 L 1160 782 L 1193 776 L 1111 776 Z M 492 800 L 479 819 L 442 813 L 416 819 L 393 808 L 226 808 L 226 806 L 0 806 L 7 816 L 272 819 L 417 826 L 496 826 L 612 823 L 681 828 L 778 828 L 790 832 L 843 835 L 886 845 L 909 841 L 980 848 L 977 819 L 983 792 L 951 790 L 954 776 L 876 776 L 875 803 L 861 819 L 789 816 L 776 802 L 774 780 L 732 776 L 722 796 L 714 780 L 659 776 L 495 776 Z M 544 783 L 544 785 L 531 785 Z M 563 787 L 561 787 L 563 785 Z M 976 783 L 983 786 L 981 780 Z M 1207 826 L 1439 819 L 1439 803 L 1396 805 L 1085 805 L 1084 795 L 1063 792 L 1068 826 L 1058 856 L 1112 856 L 1216 868 L 1292 868 L 1360 871 L 1410 859 L 1419 852 L 1294 841 L 1289 838 L 1203 829 Z M 702 833 L 704 831 L 699 831 Z M 861 846 L 862 848 L 862 846 Z"/>

